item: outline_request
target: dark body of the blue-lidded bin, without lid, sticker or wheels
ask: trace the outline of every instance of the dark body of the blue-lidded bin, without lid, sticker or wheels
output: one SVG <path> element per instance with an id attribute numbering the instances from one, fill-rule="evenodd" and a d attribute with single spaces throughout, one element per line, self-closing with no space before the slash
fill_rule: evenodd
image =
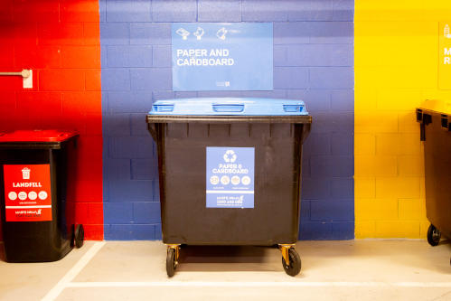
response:
<path id="1" fill-rule="evenodd" d="M 163 242 L 189 245 L 295 243 L 302 144 L 311 117 L 153 117 Z M 205 207 L 205 148 L 255 147 L 253 209 Z"/>

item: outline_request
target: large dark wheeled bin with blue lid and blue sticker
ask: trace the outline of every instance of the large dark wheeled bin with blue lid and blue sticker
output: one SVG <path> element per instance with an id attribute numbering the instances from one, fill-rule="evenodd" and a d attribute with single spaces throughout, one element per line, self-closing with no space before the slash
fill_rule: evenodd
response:
<path id="1" fill-rule="evenodd" d="M 158 149 L 166 271 L 181 245 L 278 245 L 301 269 L 302 145 L 312 118 L 300 100 L 169 99 L 146 117 Z"/>

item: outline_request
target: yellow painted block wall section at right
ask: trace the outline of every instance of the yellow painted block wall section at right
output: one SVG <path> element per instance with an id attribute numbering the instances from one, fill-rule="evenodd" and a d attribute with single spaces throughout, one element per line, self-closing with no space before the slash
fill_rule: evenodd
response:
<path id="1" fill-rule="evenodd" d="M 415 108 L 451 99 L 438 90 L 443 21 L 450 0 L 355 0 L 356 238 L 426 237 Z"/>

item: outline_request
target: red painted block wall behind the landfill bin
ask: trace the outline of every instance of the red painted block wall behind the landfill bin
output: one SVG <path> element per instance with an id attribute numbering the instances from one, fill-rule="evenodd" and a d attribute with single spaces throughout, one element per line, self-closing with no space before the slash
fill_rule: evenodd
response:
<path id="1" fill-rule="evenodd" d="M 0 0 L 0 71 L 22 69 L 33 89 L 0 77 L 0 130 L 80 132 L 68 202 L 86 239 L 103 240 L 99 1 Z"/>

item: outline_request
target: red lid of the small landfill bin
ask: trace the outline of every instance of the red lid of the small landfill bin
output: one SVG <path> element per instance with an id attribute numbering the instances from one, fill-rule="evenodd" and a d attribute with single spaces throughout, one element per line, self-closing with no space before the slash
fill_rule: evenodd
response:
<path id="1" fill-rule="evenodd" d="M 17 130 L 13 132 L 0 132 L 0 143 L 5 142 L 63 142 L 79 134 L 75 131 L 60 131 L 55 129 L 44 130 Z"/>

